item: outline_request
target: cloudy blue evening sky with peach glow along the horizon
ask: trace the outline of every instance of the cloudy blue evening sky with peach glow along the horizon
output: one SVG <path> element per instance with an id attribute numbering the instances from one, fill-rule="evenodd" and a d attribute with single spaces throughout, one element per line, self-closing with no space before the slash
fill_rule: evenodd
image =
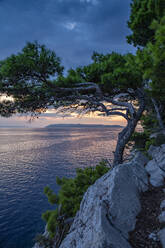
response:
<path id="1" fill-rule="evenodd" d="M 66 69 L 90 63 L 93 51 L 127 53 L 135 49 L 126 35 L 131 0 L 0 0 L 0 60 L 37 40 L 54 50 Z M 0 126 L 45 126 L 52 123 L 120 124 L 117 118 L 55 118 L 46 113 L 0 118 Z"/>

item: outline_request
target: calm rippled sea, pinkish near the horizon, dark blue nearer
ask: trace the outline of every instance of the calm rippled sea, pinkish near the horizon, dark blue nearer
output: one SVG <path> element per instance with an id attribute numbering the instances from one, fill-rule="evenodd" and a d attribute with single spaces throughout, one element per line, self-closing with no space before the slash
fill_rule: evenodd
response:
<path id="1" fill-rule="evenodd" d="M 56 176 L 112 159 L 119 128 L 0 129 L 0 248 L 30 248 L 44 231 Z"/>

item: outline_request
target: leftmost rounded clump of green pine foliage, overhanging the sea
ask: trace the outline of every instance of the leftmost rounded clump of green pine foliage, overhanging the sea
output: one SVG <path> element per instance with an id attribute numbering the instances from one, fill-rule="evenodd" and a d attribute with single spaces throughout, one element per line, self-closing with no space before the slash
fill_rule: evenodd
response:
<path id="1" fill-rule="evenodd" d="M 55 52 L 28 42 L 20 53 L 0 61 L 0 92 L 15 99 L 18 112 L 42 112 L 51 98 L 50 79 L 62 71 Z"/>

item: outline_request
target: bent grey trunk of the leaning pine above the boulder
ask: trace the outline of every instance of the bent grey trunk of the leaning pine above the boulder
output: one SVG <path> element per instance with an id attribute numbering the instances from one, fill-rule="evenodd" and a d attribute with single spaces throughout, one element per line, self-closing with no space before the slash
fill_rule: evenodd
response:
<path id="1" fill-rule="evenodd" d="M 135 116 L 131 117 L 128 120 L 127 126 L 118 135 L 118 141 L 114 153 L 113 166 L 116 166 L 123 162 L 123 153 L 125 146 L 130 140 L 132 134 L 134 133 L 136 125 L 143 114 L 145 108 L 144 93 L 141 90 L 138 90 L 137 94 L 139 100 L 139 109 L 137 110 Z"/>

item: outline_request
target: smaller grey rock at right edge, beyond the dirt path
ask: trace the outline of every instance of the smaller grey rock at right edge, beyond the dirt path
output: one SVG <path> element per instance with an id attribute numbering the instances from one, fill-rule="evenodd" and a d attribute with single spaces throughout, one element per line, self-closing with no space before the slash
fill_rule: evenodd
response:
<path id="1" fill-rule="evenodd" d="M 151 146 L 148 153 L 153 158 L 146 166 L 150 183 L 154 187 L 163 186 L 165 184 L 165 144 L 160 147 Z"/>

